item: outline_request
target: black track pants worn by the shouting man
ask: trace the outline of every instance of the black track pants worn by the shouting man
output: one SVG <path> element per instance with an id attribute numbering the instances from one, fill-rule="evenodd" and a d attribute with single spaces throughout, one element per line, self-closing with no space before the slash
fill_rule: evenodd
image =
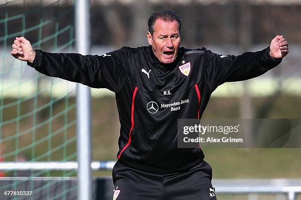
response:
<path id="1" fill-rule="evenodd" d="M 216 200 L 211 177 L 205 161 L 173 174 L 146 173 L 118 161 L 113 170 L 113 200 Z"/>

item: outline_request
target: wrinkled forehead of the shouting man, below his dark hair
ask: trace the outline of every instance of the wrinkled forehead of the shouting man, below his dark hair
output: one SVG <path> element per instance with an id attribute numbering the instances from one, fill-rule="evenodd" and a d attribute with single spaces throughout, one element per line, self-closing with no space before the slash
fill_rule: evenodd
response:
<path id="1" fill-rule="evenodd" d="M 162 35 L 169 35 L 169 34 L 179 34 L 179 23 L 174 21 L 165 21 L 162 19 L 157 19 L 154 27 L 154 34 L 162 34 Z"/>

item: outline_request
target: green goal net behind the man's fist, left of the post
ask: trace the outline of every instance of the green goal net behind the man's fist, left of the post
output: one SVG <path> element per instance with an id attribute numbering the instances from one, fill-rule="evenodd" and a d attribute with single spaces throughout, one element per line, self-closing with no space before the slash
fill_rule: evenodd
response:
<path id="1" fill-rule="evenodd" d="M 74 5 L 66 0 L 0 0 L 0 162 L 76 160 L 75 84 L 37 73 L 10 55 L 15 37 L 24 36 L 34 49 L 71 52 L 74 45 Z M 49 179 L 36 185 L 24 178 L 0 185 L 4 191 L 32 191 L 6 198 L 65 199 L 76 190 L 61 182 L 74 170 L 3 170 L 0 176 L 60 176 L 60 192 Z M 4 178 L 5 179 L 5 178 Z M 4 180 L 3 179 L 3 180 Z M 27 182 L 26 188 L 23 183 Z M 2 197 L 1 196 L 1 197 Z M 2 198 L 0 198 L 2 199 Z"/>

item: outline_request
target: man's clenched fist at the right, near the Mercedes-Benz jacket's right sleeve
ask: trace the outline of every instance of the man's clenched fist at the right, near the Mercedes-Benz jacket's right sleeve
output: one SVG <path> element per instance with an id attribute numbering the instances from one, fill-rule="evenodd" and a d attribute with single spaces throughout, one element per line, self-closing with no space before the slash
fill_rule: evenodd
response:
<path id="1" fill-rule="evenodd" d="M 270 55 L 272 58 L 281 59 L 288 54 L 288 42 L 282 35 L 277 35 L 271 41 Z"/>

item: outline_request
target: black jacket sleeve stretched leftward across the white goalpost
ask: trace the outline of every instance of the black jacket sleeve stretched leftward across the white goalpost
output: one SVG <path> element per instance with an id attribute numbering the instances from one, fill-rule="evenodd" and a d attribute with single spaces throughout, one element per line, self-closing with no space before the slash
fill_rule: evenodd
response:
<path id="1" fill-rule="evenodd" d="M 127 60 L 128 51 L 125 47 L 105 55 L 35 50 L 34 61 L 28 65 L 44 75 L 118 92 L 124 83 Z"/>

